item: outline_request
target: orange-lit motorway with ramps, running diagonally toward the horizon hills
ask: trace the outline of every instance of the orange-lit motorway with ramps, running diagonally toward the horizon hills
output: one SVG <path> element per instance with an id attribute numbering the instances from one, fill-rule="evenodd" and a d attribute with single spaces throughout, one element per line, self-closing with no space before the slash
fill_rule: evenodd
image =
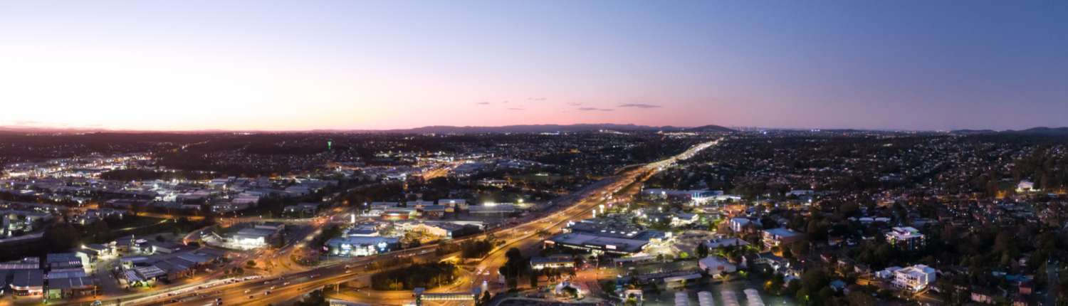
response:
<path id="1" fill-rule="evenodd" d="M 696 154 L 697 150 L 714 145 L 717 142 L 709 142 L 694 146 L 684 154 L 680 154 L 664 161 L 656 162 L 645 167 L 645 170 L 651 170 L 651 171 L 631 172 L 624 176 L 617 176 L 609 178 L 607 180 L 601 180 L 599 181 L 598 187 L 595 187 L 593 189 L 587 188 L 583 192 L 580 192 L 581 199 L 577 204 L 568 208 L 565 208 L 563 210 L 547 211 L 546 213 L 548 214 L 548 216 L 539 218 L 530 221 L 528 223 L 520 224 L 518 226 L 507 228 L 505 230 L 498 232 L 497 233 L 498 239 L 504 241 L 505 244 L 499 248 L 496 248 L 489 255 L 487 255 L 485 259 L 478 264 L 478 269 L 486 270 L 503 265 L 507 260 L 504 257 L 504 254 L 508 248 L 516 247 L 519 249 L 531 249 L 537 243 L 540 243 L 539 239 L 540 237 L 535 237 L 536 236 L 535 232 L 537 230 L 547 229 L 549 231 L 553 231 L 552 229 L 559 228 L 569 221 L 587 219 L 592 216 L 591 212 L 594 209 L 597 209 L 600 204 L 606 203 L 609 195 L 621 196 L 621 197 L 631 196 L 639 190 L 638 189 L 639 184 L 637 183 L 631 184 L 632 182 L 644 181 L 656 171 L 673 164 L 676 160 L 689 158 L 694 154 Z M 630 187 L 630 189 L 624 190 L 623 192 L 618 192 L 621 189 L 626 187 Z M 617 192 L 618 194 L 615 194 Z M 331 211 L 331 214 L 333 214 L 333 216 L 343 216 L 344 212 Z M 267 258 L 270 259 L 268 260 L 268 262 L 270 262 L 271 265 L 278 264 L 278 268 L 286 268 L 285 270 L 289 270 L 286 273 L 279 273 L 281 275 L 276 274 L 270 276 L 264 276 L 263 278 L 258 279 L 251 279 L 236 284 L 225 284 L 221 286 L 206 287 L 201 289 L 176 290 L 172 292 L 183 292 L 183 293 L 174 296 L 168 296 L 167 294 L 169 292 L 166 291 L 160 291 L 158 293 L 153 292 L 154 295 L 147 295 L 147 297 L 140 297 L 140 296 L 145 296 L 145 293 L 129 294 L 124 296 L 113 296 L 110 299 L 106 299 L 103 305 L 138 305 L 138 306 L 155 306 L 155 305 L 169 305 L 169 304 L 215 305 L 217 303 L 216 299 L 221 299 L 221 302 L 223 303 L 222 305 L 278 304 L 300 296 L 313 290 L 320 289 L 327 285 L 340 284 L 343 281 L 355 279 L 356 277 L 359 277 L 361 275 L 370 274 L 368 272 L 363 271 L 364 265 L 366 265 L 373 260 L 389 258 L 390 256 L 394 256 L 395 255 L 394 253 L 399 253 L 399 252 L 394 252 L 390 254 L 372 256 L 372 257 L 349 258 L 344 263 L 336 263 L 308 271 L 300 271 L 303 269 L 299 268 L 300 265 L 295 264 L 292 261 L 288 261 L 289 257 L 288 255 L 290 255 L 296 249 L 302 248 L 303 245 L 307 245 L 308 241 L 313 237 L 312 233 L 321 230 L 321 227 L 325 224 L 326 222 L 320 222 L 317 225 L 315 225 L 312 228 L 314 229 L 314 231 L 310 229 L 308 231 L 300 232 L 300 235 L 297 235 L 297 239 L 290 241 L 288 245 L 286 245 L 279 252 L 274 252 L 271 255 L 267 255 L 268 256 Z M 483 236 L 477 236 L 466 239 L 480 239 Z M 538 238 L 538 239 L 533 239 L 533 238 Z M 461 239 L 458 241 L 462 241 L 466 239 Z M 437 248 L 436 245 L 422 246 L 417 248 L 405 249 L 403 251 L 403 253 L 426 252 L 425 255 L 422 255 L 421 253 L 420 256 L 421 257 L 433 256 L 434 249 L 436 248 Z M 345 265 L 350 265 L 350 268 L 346 269 Z M 281 272 L 281 270 L 279 270 L 279 272 Z M 464 275 L 461 275 L 461 278 L 465 278 L 464 277 L 465 275 L 467 276 L 466 279 L 464 279 L 466 281 L 459 281 L 458 285 L 462 285 L 462 283 L 470 283 L 474 280 L 474 278 L 472 278 L 472 276 L 470 274 L 467 274 L 466 272 Z M 284 279 L 279 279 L 280 277 L 284 277 Z M 265 284 L 265 281 L 270 281 L 270 284 Z M 286 283 L 288 283 L 288 285 L 284 285 Z M 272 287 L 273 289 L 271 289 Z M 267 294 L 266 293 L 267 291 L 270 291 L 270 294 Z M 380 296 L 367 296 L 370 300 L 379 301 L 374 304 L 382 304 L 380 303 L 379 299 L 393 300 L 393 299 L 405 299 L 407 296 L 410 296 L 410 293 L 395 292 L 395 291 L 368 293 L 368 295 L 375 295 L 375 294 L 379 294 Z M 119 301 L 117 299 L 122 299 L 122 301 L 126 302 L 123 302 L 121 304 L 116 303 Z M 186 300 L 186 301 L 170 303 L 171 300 L 178 300 L 178 301 Z M 78 304 L 70 303 L 69 305 L 78 305 Z"/>

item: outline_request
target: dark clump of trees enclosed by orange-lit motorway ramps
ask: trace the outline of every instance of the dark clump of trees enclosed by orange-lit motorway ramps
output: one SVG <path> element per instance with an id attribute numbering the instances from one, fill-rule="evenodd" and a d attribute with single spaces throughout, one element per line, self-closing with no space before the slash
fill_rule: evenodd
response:
<path id="1" fill-rule="evenodd" d="M 415 263 L 395 270 L 382 271 L 371 276 L 371 288 L 375 290 L 412 290 L 415 288 L 437 288 L 456 281 L 459 276 L 456 265 L 444 262 Z"/>

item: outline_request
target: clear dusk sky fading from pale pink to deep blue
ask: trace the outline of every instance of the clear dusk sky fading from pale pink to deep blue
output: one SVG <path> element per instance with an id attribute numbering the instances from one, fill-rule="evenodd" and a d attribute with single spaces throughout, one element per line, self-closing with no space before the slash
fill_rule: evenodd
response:
<path id="1" fill-rule="evenodd" d="M 5 1 L 0 126 L 1068 126 L 1068 1 Z"/>

